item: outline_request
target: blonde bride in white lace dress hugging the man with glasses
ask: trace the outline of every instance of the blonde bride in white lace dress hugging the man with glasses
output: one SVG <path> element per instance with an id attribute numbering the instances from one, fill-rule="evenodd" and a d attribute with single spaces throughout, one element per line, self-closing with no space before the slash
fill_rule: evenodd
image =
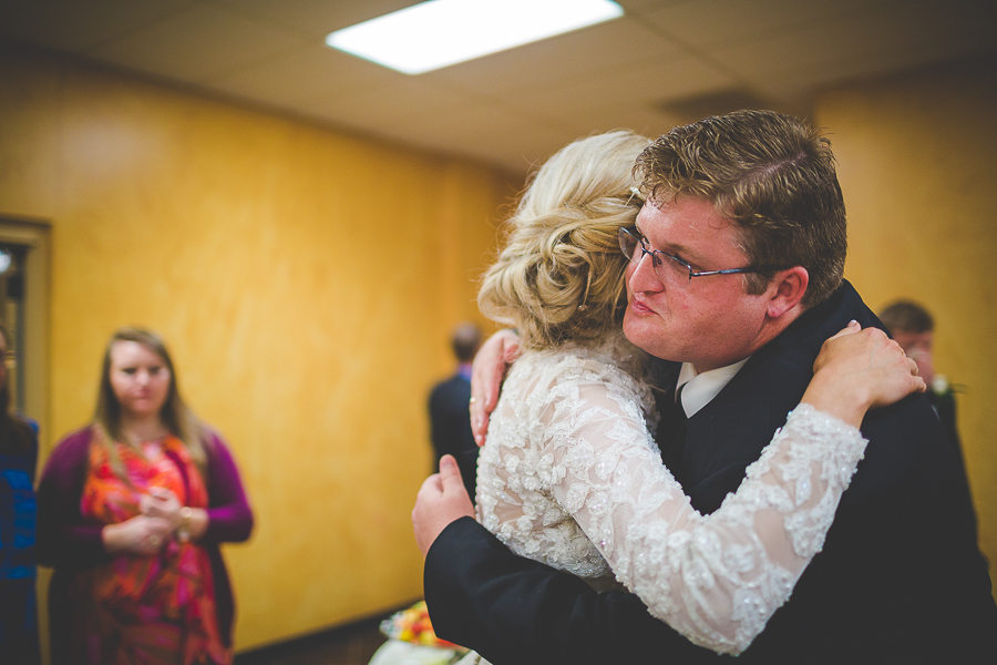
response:
<path id="1" fill-rule="evenodd" d="M 524 350 L 481 451 L 477 519 L 517 554 L 626 587 L 696 644 L 738 654 L 820 552 L 865 410 L 923 383 L 885 336 L 851 326 L 738 492 L 700 515 L 661 463 L 648 357 L 620 329 L 618 234 L 643 204 L 631 170 L 647 144 L 617 131 L 568 145 L 508 223 L 479 303 Z"/>

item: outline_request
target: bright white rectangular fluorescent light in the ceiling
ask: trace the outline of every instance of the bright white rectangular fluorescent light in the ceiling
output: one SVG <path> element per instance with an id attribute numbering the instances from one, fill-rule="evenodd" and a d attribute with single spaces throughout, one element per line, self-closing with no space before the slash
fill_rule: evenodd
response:
<path id="1" fill-rule="evenodd" d="M 421 74 L 620 16 L 609 0 L 430 0 L 337 30 L 326 43 Z"/>

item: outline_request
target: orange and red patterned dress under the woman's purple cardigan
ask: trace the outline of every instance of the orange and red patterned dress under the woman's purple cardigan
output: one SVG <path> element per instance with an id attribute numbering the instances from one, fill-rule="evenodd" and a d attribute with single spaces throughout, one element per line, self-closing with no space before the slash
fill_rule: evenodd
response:
<path id="1" fill-rule="evenodd" d="M 115 473 L 107 450 L 93 443 L 80 500 L 84 519 L 115 524 L 134 518 L 152 488 L 172 491 L 182 505 L 207 508 L 204 479 L 179 439 L 166 437 L 152 459 L 115 446 L 127 481 Z M 81 601 L 91 605 L 76 626 L 86 645 L 80 654 L 84 663 L 232 663 L 218 634 L 212 565 L 203 548 L 171 540 L 158 555 L 117 556 L 82 571 L 76 583 Z"/>

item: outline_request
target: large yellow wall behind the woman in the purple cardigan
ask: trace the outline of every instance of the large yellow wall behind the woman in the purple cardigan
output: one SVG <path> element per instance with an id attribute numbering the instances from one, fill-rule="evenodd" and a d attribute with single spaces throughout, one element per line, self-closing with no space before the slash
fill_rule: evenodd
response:
<path id="1" fill-rule="evenodd" d="M 43 458 L 111 331 L 164 334 L 257 526 L 238 649 L 422 593 L 426 392 L 495 245 L 503 174 L 0 47 L 0 214 L 52 225 Z"/>

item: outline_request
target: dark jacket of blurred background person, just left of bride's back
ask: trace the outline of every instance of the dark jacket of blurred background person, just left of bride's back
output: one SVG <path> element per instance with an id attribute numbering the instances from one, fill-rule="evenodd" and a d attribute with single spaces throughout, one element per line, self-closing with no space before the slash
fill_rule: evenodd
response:
<path id="1" fill-rule="evenodd" d="M 452 454 L 461 470 L 464 487 L 474 500 L 477 483 L 477 443 L 471 431 L 471 413 L 467 401 L 471 399 L 471 381 L 461 375 L 454 375 L 433 387 L 430 392 L 430 436 L 436 453 L 439 469 L 440 458 Z"/>

